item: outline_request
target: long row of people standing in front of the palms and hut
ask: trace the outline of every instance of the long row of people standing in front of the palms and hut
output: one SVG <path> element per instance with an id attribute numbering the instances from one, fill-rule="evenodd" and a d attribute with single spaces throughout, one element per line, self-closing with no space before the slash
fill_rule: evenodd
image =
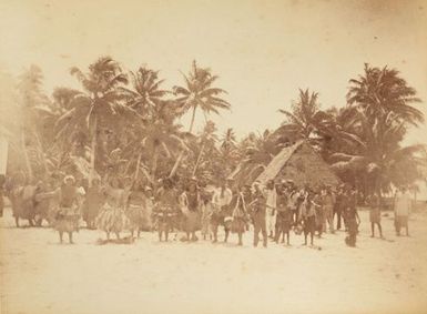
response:
<path id="1" fill-rule="evenodd" d="M 159 186 L 135 182 L 131 178 L 112 176 L 103 182 L 93 179 L 88 186 L 72 175 L 63 180 L 14 184 L 8 190 L 13 215 L 17 221 L 24 217 L 30 224 L 41 224 L 45 219 L 59 232 L 73 242 L 73 232 L 85 222 L 88 229 L 111 233 L 121 240 L 122 232 L 130 232 L 134 239 L 141 231 L 156 231 L 160 241 L 167 241 L 170 234 L 181 241 L 197 241 L 201 231 L 203 240 L 217 242 L 218 229 L 224 229 L 224 242 L 231 233 L 237 235 L 243 245 L 243 234 L 253 227 L 253 245 L 268 239 L 291 245 L 292 231 L 304 235 L 304 245 L 314 245 L 317 235 L 335 233 L 345 229 L 348 246 L 356 245 L 360 219 L 356 206 L 356 191 L 348 184 L 324 185 L 317 190 L 297 188 L 293 181 L 255 181 L 252 185 L 237 186 L 231 180 L 223 180 L 220 186 L 207 186 L 195 178 L 175 181 L 165 178 Z M 154 191 L 155 190 L 155 191 Z M 367 197 L 372 236 L 375 226 L 383 237 L 380 224 L 382 200 L 373 194 Z M 395 199 L 395 227 L 399 235 L 401 227 L 408 235 L 410 197 L 400 189 Z M 335 225 L 336 220 L 336 225 Z"/>

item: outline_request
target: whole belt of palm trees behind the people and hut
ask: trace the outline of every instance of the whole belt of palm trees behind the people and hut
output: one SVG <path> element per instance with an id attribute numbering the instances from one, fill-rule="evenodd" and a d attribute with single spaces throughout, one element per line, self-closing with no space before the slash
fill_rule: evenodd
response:
<path id="1" fill-rule="evenodd" d="M 11 136 L 10 172 L 29 180 L 73 172 L 131 176 L 155 186 L 160 179 L 197 176 L 216 183 L 233 171 L 247 179 L 265 168 L 284 146 L 306 140 L 337 174 L 359 190 L 387 191 L 421 178 L 425 150 L 404 146 L 411 126 L 424 122 L 420 100 L 399 72 L 365 64 L 349 80 L 347 103 L 322 110 L 318 94 L 299 90 L 283 124 L 237 141 L 233 129 L 218 134 L 210 114 L 230 110 L 218 77 L 194 61 L 183 84 L 163 88 L 159 72 L 146 67 L 125 73 L 109 57 L 88 70 L 72 68 L 80 90 L 43 92 L 42 71 L 33 65 L 21 77 L 13 114 L 4 125 Z M 194 132 L 196 111 L 205 128 Z M 191 114 L 190 125 L 179 118 Z"/>

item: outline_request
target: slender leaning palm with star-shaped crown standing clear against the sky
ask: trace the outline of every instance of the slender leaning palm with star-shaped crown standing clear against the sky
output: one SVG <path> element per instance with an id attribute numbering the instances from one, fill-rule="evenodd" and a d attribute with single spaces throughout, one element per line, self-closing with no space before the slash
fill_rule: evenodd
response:
<path id="1" fill-rule="evenodd" d="M 183 74 L 185 80 L 185 87 L 174 87 L 173 92 L 177 97 L 176 103 L 181 109 L 181 113 L 192 111 L 192 118 L 189 126 L 189 132 L 193 132 L 194 120 L 197 109 L 202 110 L 205 118 L 209 113 L 213 112 L 218 114 L 221 109 L 228 109 L 230 103 L 221 98 L 226 93 L 223 89 L 214 88 L 213 83 L 218 79 L 217 75 L 213 75 L 207 68 L 197 67 L 193 61 L 192 69 L 187 75 Z M 177 170 L 177 166 L 184 155 L 182 151 L 171 171 L 171 176 Z"/>

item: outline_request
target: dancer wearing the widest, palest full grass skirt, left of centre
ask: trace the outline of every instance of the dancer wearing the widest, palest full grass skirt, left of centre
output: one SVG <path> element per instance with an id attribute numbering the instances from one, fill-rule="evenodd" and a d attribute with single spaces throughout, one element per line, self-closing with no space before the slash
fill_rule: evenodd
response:
<path id="1" fill-rule="evenodd" d="M 110 180 L 104 194 L 106 202 L 95 219 L 96 229 L 106 233 L 106 240 L 111 232 L 120 240 L 120 232 L 129 229 L 130 221 L 124 213 L 124 190 L 116 178 Z"/>

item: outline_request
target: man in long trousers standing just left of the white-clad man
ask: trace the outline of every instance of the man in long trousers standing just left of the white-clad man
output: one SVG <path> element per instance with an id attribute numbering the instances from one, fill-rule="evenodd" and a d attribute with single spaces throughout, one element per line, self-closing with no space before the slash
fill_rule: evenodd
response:
<path id="1" fill-rule="evenodd" d="M 273 185 L 274 186 L 274 185 Z M 267 247 L 267 227 L 266 227 L 266 217 L 268 216 L 267 212 L 267 199 L 268 196 L 264 195 L 264 192 L 260 188 L 260 182 L 254 184 L 254 194 L 253 194 L 253 222 L 254 222 L 254 246 L 256 247 L 260 242 L 260 232 L 263 234 L 263 245 Z M 275 200 L 275 199 L 274 199 Z M 275 224 L 273 225 L 275 227 Z"/>

